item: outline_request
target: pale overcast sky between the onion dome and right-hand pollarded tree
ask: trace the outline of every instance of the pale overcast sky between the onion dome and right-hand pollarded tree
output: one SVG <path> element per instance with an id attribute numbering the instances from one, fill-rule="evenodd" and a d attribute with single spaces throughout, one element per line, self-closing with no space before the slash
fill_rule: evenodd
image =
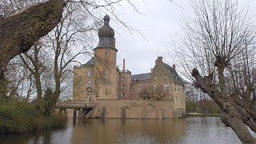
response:
<path id="1" fill-rule="evenodd" d="M 241 0 L 242 1 L 242 0 Z M 120 26 L 120 23 L 110 19 L 110 26 L 115 30 L 116 48 L 118 49 L 118 66 L 122 69 L 122 58 L 126 58 L 126 69 L 132 74 L 150 72 L 154 61 L 159 56 L 165 56 L 166 45 L 175 40 L 176 34 L 182 32 L 184 18 L 192 16 L 190 0 L 176 0 L 179 6 L 168 0 L 134 0 L 134 5 L 140 13 L 130 6 L 116 7 L 118 18 L 127 22 L 134 29 L 141 30 L 142 35 Z M 246 0 L 251 10 L 256 7 L 255 0 Z M 110 15 L 111 18 L 111 15 Z M 95 44 L 97 46 L 97 44 Z M 171 65 L 174 63 L 165 61 Z"/>

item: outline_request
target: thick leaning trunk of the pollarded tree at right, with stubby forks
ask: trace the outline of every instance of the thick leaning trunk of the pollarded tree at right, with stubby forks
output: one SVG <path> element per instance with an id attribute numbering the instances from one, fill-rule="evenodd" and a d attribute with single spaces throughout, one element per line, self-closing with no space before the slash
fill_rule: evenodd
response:
<path id="1" fill-rule="evenodd" d="M 246 108 L 238 106 L 234 98 L 227 97 L 223 70 L 222 67 L 218 69 L 220 90 L 213 83 L 209 83 L 205 78 L 202 78 L 197 69 L 192 70 L 192 76 L 195 78 L 195 86 L 206 94 L 209 94 L 210 98 L 218 104 L 222 110 L 222 122 L 234 130 L 242 143 L 256 143 L 256 139 L 250 134 L 247 128 L 247 126 L 251 130 L 256 128 L 255 123 L 250 118 L 250 114 L 248 114 Z"/>

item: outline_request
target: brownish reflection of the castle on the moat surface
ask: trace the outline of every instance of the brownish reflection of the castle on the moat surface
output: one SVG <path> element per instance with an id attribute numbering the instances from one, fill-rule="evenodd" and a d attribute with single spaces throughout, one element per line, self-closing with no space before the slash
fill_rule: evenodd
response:
<path id="1" fill-rule="evenodd" d="M 88 119 L 74 126 L 71 143 L 166 143 L 185 134 L 185 119 Z"/>

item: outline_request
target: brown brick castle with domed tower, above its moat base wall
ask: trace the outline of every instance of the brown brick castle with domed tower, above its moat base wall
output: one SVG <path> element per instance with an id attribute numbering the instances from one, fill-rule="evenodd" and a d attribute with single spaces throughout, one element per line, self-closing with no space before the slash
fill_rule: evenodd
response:
<path id="1" fill-rule="evenodd" d="M 181 109 L 184 114 L 185 87 L 175 65 L 171 67 L 158 57 L 150 73 L 131 75 L 124 59 L 119 70 L 116 66 L 118 49 L 109 22 L 110 17 L 106 15 L 104 25 L 98 30 L 94 57 L 82 66 L 74 66 L 73 100 L 86 103 L 116 100 L 113 102 L 122 102 L 120 105 L 123 102 L 171 102 L 172 107 Z"/>

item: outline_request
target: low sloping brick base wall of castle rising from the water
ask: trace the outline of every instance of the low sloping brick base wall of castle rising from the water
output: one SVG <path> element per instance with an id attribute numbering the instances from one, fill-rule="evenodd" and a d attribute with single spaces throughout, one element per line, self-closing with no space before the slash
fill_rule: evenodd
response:
<path id="1" fill-rule="evenodd" d="M 87 118 L 179 118 L 185 107 L 173 102 L 145 100 L 98 100 Z"/>

